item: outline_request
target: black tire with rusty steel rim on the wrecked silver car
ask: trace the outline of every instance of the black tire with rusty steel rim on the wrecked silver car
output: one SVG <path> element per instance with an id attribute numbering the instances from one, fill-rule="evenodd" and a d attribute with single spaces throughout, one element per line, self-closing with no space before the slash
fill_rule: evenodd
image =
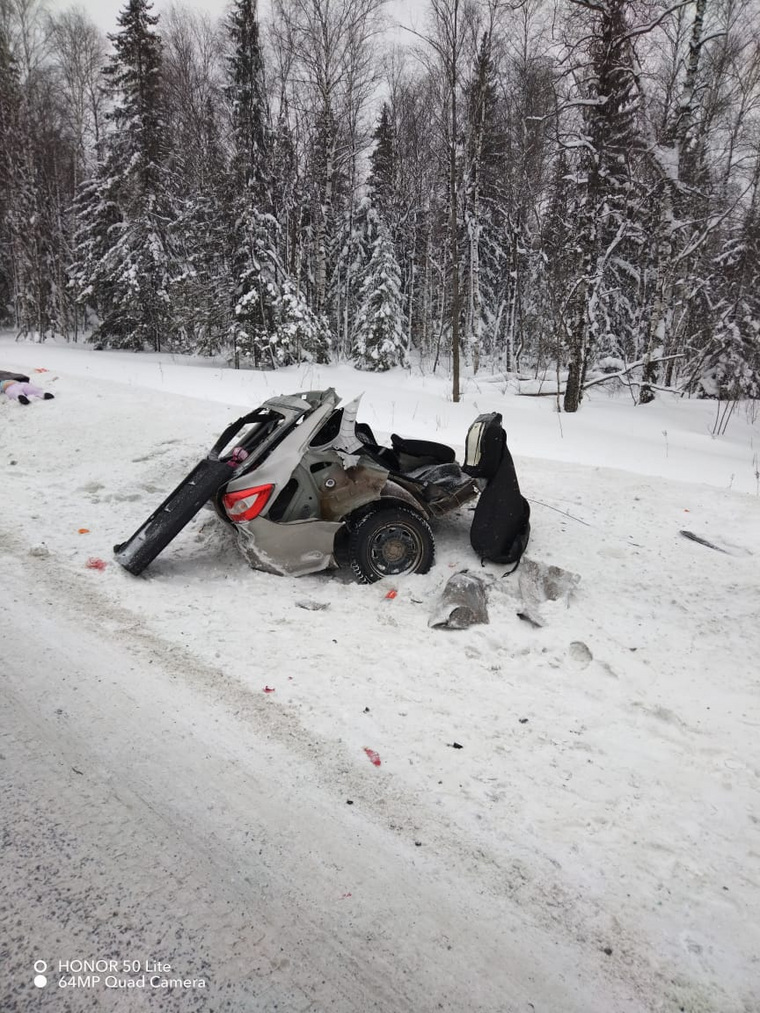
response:
<path id="1" fill-rule="evenodd" d="M 407 506 L 372 511 L 349 529 L 349 560 L 360 583 L 401 573 L 427 573 L 435 554 L 430 525 Z"/>

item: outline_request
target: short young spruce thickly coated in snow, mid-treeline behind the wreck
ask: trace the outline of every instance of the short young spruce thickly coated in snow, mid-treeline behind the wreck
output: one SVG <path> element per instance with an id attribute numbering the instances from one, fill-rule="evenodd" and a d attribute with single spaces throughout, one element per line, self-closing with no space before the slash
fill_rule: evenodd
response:
<path id="1" fill-rule="evenodd" d="M 353 354 L 357 369 L 383 372 L 406 364 L 401 271 L 387 225 L 374 209 L 367 216 L 375 239 L 362 285 Z"/>

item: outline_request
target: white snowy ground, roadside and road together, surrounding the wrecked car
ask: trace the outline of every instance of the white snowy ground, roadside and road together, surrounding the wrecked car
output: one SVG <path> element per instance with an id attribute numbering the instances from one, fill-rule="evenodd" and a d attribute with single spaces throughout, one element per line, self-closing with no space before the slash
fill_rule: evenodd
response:
<path id="1" fill-rule="evenodd" d="M 560 415 L 487 376 L 454 404 L 419 371 L 238 373 L 7 335 L 0 369 L 56 395 L 0 398 L 3 1013 L 760 1010 L 744 409 L 712 438 L 707 402 L 596 388 Z M 378 437 L 459 454 L 478 413 L 503 412 L 527 555 L 580 575 L 569 602 L 541 628 L 518 618 L 518 575 L 480 569 L 466 509 L 391 599 L 387 581 L 253 571 L 207 511 L 143 577 L 112 560 L 241 409 L 326 386 L 364 391 Z M 497 578 L 489 624 L 429 628 L 464 568 Z M 208 988 L 31 984 L 39 957 L 92 956 Z"/>

